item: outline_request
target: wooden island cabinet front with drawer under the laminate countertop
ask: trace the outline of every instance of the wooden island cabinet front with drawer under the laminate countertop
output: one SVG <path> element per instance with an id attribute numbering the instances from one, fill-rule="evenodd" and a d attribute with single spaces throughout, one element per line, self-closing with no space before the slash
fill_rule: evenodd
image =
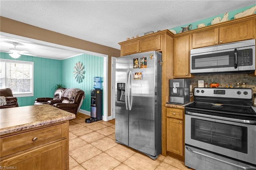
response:
<path id="1" fill-rule="evenodd" d="M 3 135 L 0 140 L 2 167 L 68 170 L 68 121 Z"/>

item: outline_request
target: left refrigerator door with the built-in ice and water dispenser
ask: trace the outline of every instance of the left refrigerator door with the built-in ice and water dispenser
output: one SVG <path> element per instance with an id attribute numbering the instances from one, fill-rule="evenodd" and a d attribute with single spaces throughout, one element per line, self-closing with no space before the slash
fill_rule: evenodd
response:
<path id="1" fill-rule="evenodd" d="M 117 99 L 117 85 L 125 85 L 121 93 L 127 94 L 127 76 L 129 71 L 129 56 L 123 56 L 116 59 L 116 123 L 115 136 L 116 141 L 128 145 L 128 116 L 127 99 Z"/>

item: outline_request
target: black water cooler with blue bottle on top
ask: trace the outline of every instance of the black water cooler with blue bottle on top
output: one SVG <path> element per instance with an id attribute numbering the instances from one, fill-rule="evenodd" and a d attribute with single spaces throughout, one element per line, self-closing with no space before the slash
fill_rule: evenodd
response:
<path id="1" fill-rule="evenodd" d="M 102 120 L 102 90 L 101 88 L 101 77 L 94 77 L 94 88 L 91 90 L 91 117 L 85 119 L 85 123 L 92 123 Z"/>

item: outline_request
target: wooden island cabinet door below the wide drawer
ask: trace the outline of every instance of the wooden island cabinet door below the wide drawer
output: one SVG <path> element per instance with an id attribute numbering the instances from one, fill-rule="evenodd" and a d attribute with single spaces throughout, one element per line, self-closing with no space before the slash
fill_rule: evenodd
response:
<path id="1" fill-rule="evenodd" d="M 21 170 L 67 170 L 67 139 L 1 160 L 0 166 Z"/>

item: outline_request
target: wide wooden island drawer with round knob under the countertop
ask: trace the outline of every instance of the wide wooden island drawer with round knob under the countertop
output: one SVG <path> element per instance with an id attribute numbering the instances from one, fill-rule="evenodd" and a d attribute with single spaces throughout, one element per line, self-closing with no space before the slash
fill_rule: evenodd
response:
<path id="1" fill-rule="evenodd" d="M 68 123 L 0 138 L 1 157 L 68 136 Z"/>

